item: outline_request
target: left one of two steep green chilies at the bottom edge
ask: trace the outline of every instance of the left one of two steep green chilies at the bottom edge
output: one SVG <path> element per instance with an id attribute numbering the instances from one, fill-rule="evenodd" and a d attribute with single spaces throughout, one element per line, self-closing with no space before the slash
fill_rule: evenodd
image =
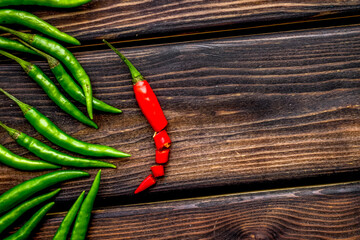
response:
<path id="1" fill-rule="evenodd" d="M 70 231 L 71 225 L 74 222 L 76 215 L 80 209 L 81 203 L 84 200 L 85 191 L 83 191 L 78 199 L 75 201 L 74 205 L 70 208 L 69 212 L 66 214 L 65 218 L 61 222 L 53 240 L 66 240 L 66 237 Z"/>

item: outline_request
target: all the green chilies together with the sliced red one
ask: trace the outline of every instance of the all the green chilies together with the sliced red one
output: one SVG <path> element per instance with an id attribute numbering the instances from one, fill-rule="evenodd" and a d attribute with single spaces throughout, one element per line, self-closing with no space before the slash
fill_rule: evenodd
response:
<path id="1" fill-rule="evenodd" d="M 9 5 L 40 5 L 70 8 L 80 6 L 90 1 L 91 0 L 0 0 L 0 7 Z M 56 27 L 25 11 L 0 9 L 0 23 L 21 24 L 30 29 L 46 34 L 56 40 L 60 40 L 68 44 L 80 45 L 80 42 L 76 38 L 61 32 Z M 93 97 L 92 85 L 86 71 L 75 56 L 56 40 L 51 40 L 38 34 L 15 31 L 4 26 L 0 26 L 0 30 L 8 32 L 18 38 L 18 40 L 15 41 L 0 37 L 0 49 L 24 52 L 43 57 L 46 59 L 50 70 L 65 92 L 74 100 L 86 106 L 89 117 L 85 116 L 85 114 L 83 114 L 65 95 L 63 95 L 58 87 L 39 67 L 9 52 L 0 50 L 0 55 L 16 61 L 27 73 L 27 75 L 44 90 L 48 97 L 73 118 L 97 129 L 97 124 L 92 121 L 93 108 L 108 113 L 122 112 L 120 109 L 110 106 Z M 165 118 L 155 93 L 145 78 L 132 65 L 132 63 L 126 59 L 125 56 L 123 56 L 106 40 L 103 41 L 111 49 L 113 49 L 128 66 L 132 75 L 133 89 L 138 105 L 155 131 L 153 139 L 156 147 L 155 162 L 157 165 L 151 167 L 151 174 L 148 175 L 135 190 L 135 194 L 137 194 L 154 185 L 156 183 L 156 178 L 164 176 L 164 165 L 168 162 L 171 145 L 171 140 L 166 130 L 168 121 Z M 71 74 L 68 74 L 66 68 Z M 73 78 L 78 83 L 76 83 Z M 1 87 L 0 92 L 5 94 L 19 106 L 24 117 L 38 133 L 64 149 L 93 157 L 122 158 L 130 156 L 129 154 L 110 146 L 86 143 L 76 139 L 61 130 L 35 107 L 20 101 Z M 35 171 L 57 169 L 60 168 L 60 166 L 81 168 L 116 168 L 115 165 L 107 162 L 73 157 L 62 153 L 39 140 L 26 135 L 25 133 L 5 125 L 1 121 L 0 128 L 4 129 L 19 145 L 25 147 L 34 155 L 42 159 L 26 159 L 12 153 L 10 150 L 0 145 L 0 162 L 18 170 Z M 2 194 L 0 196 L 0 214 L 3 215 L 0 216 L 0 234 L 2 234 L 4 230 L 6 230 L 25 212 L 43 204 L 17 232 L 5 238 L 27 239 L 34 228 L 55 204 L 55 202 L 44 204 L 44 202 L 54 197 L 60 189 L 43 193 L 42 195 L 35 196 L 30 200 L 27 199 L 54 184 L 86 176 L 89 176 L 89 174 L 83 171 L 57 170 L 25 181 Z M 53 239 L 67 239 L 72 226 L 73 229 L 70 238 L 73 240 L 85 239 L 90 222 L 91 210 L 100 186 L 100 178 L 101 169 L 95 176 L 93 184 L 86 197 L 85 192 L 83 191 L 74 202 L 73 206 L 69 209 Z"/>

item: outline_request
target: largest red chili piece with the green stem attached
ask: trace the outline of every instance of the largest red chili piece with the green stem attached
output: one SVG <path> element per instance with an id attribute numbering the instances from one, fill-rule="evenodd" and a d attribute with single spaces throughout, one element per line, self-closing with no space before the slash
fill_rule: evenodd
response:
<path id="1" fill-rule="evenodd" d="M 144 79 L 141 73 L 134 67 L 134 65 L 126 59 L 116 48 L 114 48 L 106 40 L 103 40 L 119 57 L 123 62 L 128 66 L 131 76 L 132 83 L 134 84 L 134 93 L 136 101 L 139 104 L 139 107 L 146 119 L 150 123 L 151 127 L 155 132 L 160 132 L 163 130 L 168 122 L 165 118 L 163 110 L 160 107 L 159 101 L 151 89 L 149 83 Z"/>

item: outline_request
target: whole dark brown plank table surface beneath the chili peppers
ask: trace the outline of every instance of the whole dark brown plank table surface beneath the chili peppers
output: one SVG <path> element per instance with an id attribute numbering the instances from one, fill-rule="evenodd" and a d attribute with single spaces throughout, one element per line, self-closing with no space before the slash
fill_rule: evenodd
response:
<path id="1" fill-rule="evenodd" d="M 0 60 L 0 87 L 72 136 L 132 154 L 103 159 L 117 169 L 103 169 L 89 239 L 360 239 L 360 1 L 93 0 L 70 10 L 17 9 L 77 37 L 81 47 L 64 45 L 94 95 L 123 110 L 96 111 L 100 129 L 86 127 L 16 63 Z M 153 130 L 103 38 L 147 78 L 169 120 L 166 176 L 138 195 L 154 165 Z M 52 77 L 40 58 L 19 56 Z M 49 143 L 4 95 L 0 120 Z M 4 131 L 0 139 L 36 159 Z M 59 185 L 34 239 L 51 239 L 89 190 L 97 169 L 88 172 Z M 1 165 L 0 193 L 43 173 Z"/>

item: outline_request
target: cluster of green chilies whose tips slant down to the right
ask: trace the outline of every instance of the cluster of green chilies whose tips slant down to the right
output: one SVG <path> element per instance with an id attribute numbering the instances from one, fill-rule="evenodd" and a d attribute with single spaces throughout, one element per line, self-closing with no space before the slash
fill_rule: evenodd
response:
<path id="1" fill-rule="evenodd" d="M 8 1 L 0 0 L 0 6 Z M 51 2 L 51 1 L 49 1 Z M 54 1 L 55 2 L 55 1 Z M 66 2 L 66 1 L 65 1 Z M 70 2 L 70 1 L 69 1 Z M 87 1 L 79 0 L 72 1 L 73 4 Z M 10 3 L 10 2 L 8 2 Z M 27 2 L 31 4 L 31 1 Z M 68 3 L 66 3 L 68 4 Z M 81 5 L 80 4 L 80 5 Z M 68 5 L 69 6 L 69 5 Z M 5 24 L 23 24 L 29 28 L 38 30 L 58 40 L 65 41 L 67 43 L 79 45 L 80 42 L 70 35 L 59 31 L 54 26 L 41 20 L 33 14 L 25 11 L 13 10 L 13 9 L 1 9 L 0 10 L 0 22 Z M 37 34 L 28 34 L 19 31 L 12 30 L 0 26 L 0 30 L 9 32 L 19 38 L 18 41 L 8 38 L 0 37 L 0 48 L 6 50 L 15 50 L 19 52 L 31 53 L 34 55 L 45 58 L 49 64 L 49 67 L 55 78 L 60 83 L 61 87 L 76 101 L 87 106 L 90 119 L 85 116 L 70 100 L 68 100 L 59 91 L 57 86 L 50 80 L 49 77 L 35 64 L 25 61 L 13 54 L 0 50 L 0 55 L 8 57 L 16 61 L 24 71 L 46 92 L 51 100 L 56 103 L 62 110 L 77 119 L 78 121 L 98 128 L 97 124 L 91 119 L 93 118 L 92 107 L 95 109 L 109 112 L 109 113 L 121 113 L 120 109 L 110 106 L 96 98 L 92 97 L 92 88 L 90 79 L 82 68 L 77 59 L 72 53 L 63 47 L 58 42 L 45 38 Z M 39 50 L 39 49 L 43 50 Z M 70 74 L 67 73 L 60 61 L 68 68 L 75 79 L 80 83 L 81 87 L 75 83 Z M 35 108 L 22 103 L 11 94 L 0 88 L 0 91 L 14 100 L 24 113 L 25 118 L 31 125 L 42 135 L 48 138 L 53 143 L 65 148 L 69 151 L 76 152 L 82 155 L 94 156 L 94 157 L 129 157 L 129 154 L 116 150 L 112 147 L 90 144 L 71 137 L 62 131 L 59 127 L 53 124 L 50 119 L 38 112 Z M 2 126 L 21 146 L 24 146 L 29 151 L 40 157 L 41 159 L 55 163 L 56 165 L 34 161 L 30 159 L 21 158 L 9 150 L 1 146 L 0 148 L 0 162 L 7 164 L 8 166 L 15 167 L 20 170 L 42 170 L 42 169 L 54 169 L 59 168 L 57 165 L 72 166 L 72 167 L 111 167 L 115 168 L 113 164 L 105 163 L 97 160 L 75 158 L 67 154 L 56 151 L 44 143 L 32 138 L 24 133 L 17 132 L 15 129 L 7 127 L 0 122 Z M 10 131 L 10 132 L 9 132 Z"/>

